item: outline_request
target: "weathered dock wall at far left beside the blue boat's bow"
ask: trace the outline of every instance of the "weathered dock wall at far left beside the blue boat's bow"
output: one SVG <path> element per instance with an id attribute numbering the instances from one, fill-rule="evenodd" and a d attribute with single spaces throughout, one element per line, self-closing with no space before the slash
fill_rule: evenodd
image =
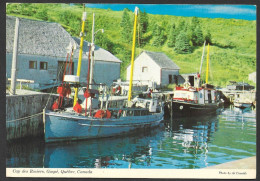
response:
<path id="1" fill-rule="evenodd" d="M 6 138 L 7 141 L 24 137 L 42 136 L 43 108 L 50 108 L 58 95 L 30 90 L 18 90 L 15 95 L 6 91 Z"/>

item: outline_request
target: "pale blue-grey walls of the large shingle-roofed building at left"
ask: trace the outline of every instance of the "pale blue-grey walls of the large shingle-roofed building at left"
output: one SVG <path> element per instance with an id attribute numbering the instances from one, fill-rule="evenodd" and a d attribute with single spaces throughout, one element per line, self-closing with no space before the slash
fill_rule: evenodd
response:
<path id="1" fill-rule="evenodd" d="M 17 79 L 34 80 L 35 83 L 49 83 L 50 80 L 56 79 L 57 75 L 63 74 L 58 70 L 58 61 L 66 61 L 66 58 L 47 57 L 37 55 L 19 54 L 17 56 Z M 29 61 L 37 62 L 37 69 L 29 69 Z M 47 70 L 40 70 L 40 62 L 47 62 Z M 74 74 L 77 73 L 77 59 L 74 62 Z M 6 74 L 11 77 L 12 54 L 6 54 Z M 82 59 L 80 81 L 87 82 L 88 60 Z M 94 80 L 96 83 L 112 84 L 116 79 L 120 78 L 120 63 L 95 61 Z"/>

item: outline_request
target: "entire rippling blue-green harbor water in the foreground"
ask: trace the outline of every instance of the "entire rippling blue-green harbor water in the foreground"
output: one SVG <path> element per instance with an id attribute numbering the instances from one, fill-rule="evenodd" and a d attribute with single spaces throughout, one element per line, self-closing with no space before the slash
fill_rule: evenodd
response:
<path id="1" fill-rule="evenodd" d="M 255 155 L 256 111 L 228 107 L 122 137 L 9 143 L 6 167 L 199 169 Z"/>

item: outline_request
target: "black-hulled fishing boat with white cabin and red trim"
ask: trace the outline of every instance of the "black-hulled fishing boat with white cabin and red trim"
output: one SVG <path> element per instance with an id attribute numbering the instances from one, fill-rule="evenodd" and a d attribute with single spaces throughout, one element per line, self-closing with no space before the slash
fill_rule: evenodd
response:
<path id="1" fill-rule="evenodd" d="M 201 59 L 201 67 L 203 62 L 204 48 Z M 219 105 L 219 94 L 213 85 L 208 84 L 208 60 L 209 46 L 205 84 L 201 85 L 200 67 L 200 72 L 198 74 L 186 77 L 183 86 L 175 87 L 172 100 L 168 101 L 168 107 L 172 109 L 172 115 L 174 117 L 216 113 Z"/>

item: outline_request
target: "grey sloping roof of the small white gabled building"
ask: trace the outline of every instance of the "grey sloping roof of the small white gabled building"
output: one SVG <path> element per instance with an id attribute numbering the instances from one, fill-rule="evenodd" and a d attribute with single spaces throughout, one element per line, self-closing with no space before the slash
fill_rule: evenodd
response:
<path id="1" fill-rule="evenodd" d="M 162 52 L 144 51 L 160 68 L 180 69 L 167 55 Z"/>

